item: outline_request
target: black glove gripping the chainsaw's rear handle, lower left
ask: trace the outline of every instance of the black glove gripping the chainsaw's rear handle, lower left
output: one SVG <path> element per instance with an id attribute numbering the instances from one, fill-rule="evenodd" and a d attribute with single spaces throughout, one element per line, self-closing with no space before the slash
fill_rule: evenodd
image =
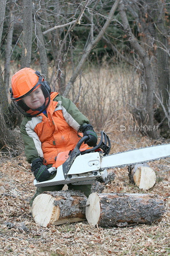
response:
<path id="1" fill-rule="evenodd" d="M 32 162 L 31 172 L 33 172 L 35 179 L 40 182 L 48 180 L 50 176 L 50 172 L 48 171 L 47 166 L 43 164 L 41 158 Z"/>

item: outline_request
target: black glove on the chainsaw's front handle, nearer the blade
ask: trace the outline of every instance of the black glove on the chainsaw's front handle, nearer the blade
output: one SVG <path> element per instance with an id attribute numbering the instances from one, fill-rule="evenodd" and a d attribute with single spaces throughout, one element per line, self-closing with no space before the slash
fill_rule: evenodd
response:
<path id="1" fill-rule="evenodd" d="M 86 124 L 84 126 L 80 126 L 81 131 L 83 132 L 83 136 L 89 136 L 89 139 L 85 140 L 85 143 L 89 147 L 95 147 L 97 144 L 97 134 L 94 132 L 94 129 L 91 124 Z"/>

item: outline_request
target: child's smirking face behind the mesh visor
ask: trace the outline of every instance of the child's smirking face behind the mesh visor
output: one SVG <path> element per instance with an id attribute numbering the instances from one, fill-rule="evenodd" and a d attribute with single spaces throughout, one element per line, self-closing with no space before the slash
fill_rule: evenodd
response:
<path id="1" fill-rule="evenodd" d="M 45 102 L 44 94 L 40 87 L 24 97 L 23 100 L 31 109 L 40 108 Z"/>

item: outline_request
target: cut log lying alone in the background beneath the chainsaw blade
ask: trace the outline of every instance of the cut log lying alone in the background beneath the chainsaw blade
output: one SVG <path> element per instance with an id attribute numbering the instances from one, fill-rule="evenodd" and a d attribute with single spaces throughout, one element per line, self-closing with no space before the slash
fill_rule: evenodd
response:
<path id="1" fill-rule="evenodd" d="M 156 182 L 156 174 L 147 163 L 131 165 L 128 167 L 129 178 L 138 188 L 147 190 Z"/>

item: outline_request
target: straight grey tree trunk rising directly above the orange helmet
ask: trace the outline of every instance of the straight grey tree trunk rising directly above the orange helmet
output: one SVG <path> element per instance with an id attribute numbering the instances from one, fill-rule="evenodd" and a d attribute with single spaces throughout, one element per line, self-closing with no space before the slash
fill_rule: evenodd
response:
<path id="1" fill-rule="evenodd" d="M 32 0 L 23 0 L 23 21 L 24 21 L 24 38 L 21 57 L 21 68 L 29 68 L 31 64 L 32 50 Z"/>

